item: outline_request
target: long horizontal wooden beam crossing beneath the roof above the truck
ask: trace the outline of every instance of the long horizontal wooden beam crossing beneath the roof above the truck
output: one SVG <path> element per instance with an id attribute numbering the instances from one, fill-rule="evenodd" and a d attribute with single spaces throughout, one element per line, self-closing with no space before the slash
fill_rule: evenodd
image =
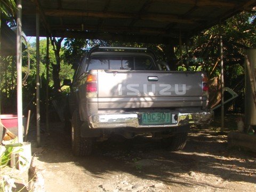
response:
<path id="1" fill-rule="evenodd" d="M 33 10 L 25 10 L 24 14 L 32 14 Z M 82 10 L 44 10 L 44 14 L 51 17 L 95 17 L 95 18 L 113 18 L 113 19 L 142 19 L 151 20 L 157 22 L 178 22 L 194 24 L 197 20 L 204 20 L 202 18 L 193 19 L 181 19 L 177 15 L 173 14 L 159 14 L 159 13 L 147 13 L 136 15 L 133 13 L 121 13 L 121 12 L 97 12 L 97 11 L 82 11 Z M 139 17 L 139 18 L 138 18 Z"/>

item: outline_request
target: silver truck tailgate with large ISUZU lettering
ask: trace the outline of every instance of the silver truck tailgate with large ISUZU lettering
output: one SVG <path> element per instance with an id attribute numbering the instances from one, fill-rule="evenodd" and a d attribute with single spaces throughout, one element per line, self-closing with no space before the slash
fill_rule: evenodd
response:
<path id="1" fill-rule="evenodd" d="M 202 106 L 202 73 L 98 70 L 98 108 Z"/>

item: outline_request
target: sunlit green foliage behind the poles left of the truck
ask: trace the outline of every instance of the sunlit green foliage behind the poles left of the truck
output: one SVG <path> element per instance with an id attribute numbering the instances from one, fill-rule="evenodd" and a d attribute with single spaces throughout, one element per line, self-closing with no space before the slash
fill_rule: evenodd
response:
<path id="1" fill-rule="evenodd" d="M 30 54 L 30 71 L 29 76 L 26 82 L 22 85 L 22 97 L 23 97 L 23 109 L 35 108 L 35 96 L 36 96 L 36 44 L 32 43 L 28 45 L 28 49 L 22 52 L 22 77 L 25 76 L 27 71 L 27 61 L 28 55 L 27 51 Z M 63 54 L 63 51 L 60 51 L 60 54 Z M 39 45 L 39 55 L 40 55 L 40 77 L 41 77 L 41 102 L 45 103 L 45 90 L 46 90 L 46 39 L 40 41 Z M 49 57 L 50 63 L 55 63 L 55 54 L 53 51 L 53 46 L 49 46 Z M 1 90 L 1 111 L 2 113 L 13 113 L 17 110 L 16 103 L 17 98 L 16 94 L 16 78 L 17 78 L 17 69 L 16 69 L 16 59 L 15 57 L 0 57 L 0 90 Z M 71 79 L 74 74 L 74 69 L 69 63 L 65 63 L 61 60 L 60 68 L 60 79 Z M 50 87 L 50 96 L 53 95 L 51 92 L 53 86 L 52 78 L 52 66 L 49 65 L 49 77 Z M 68 89 L 66 88 L 66 93 Z M 44 112 L 44 105 L 42 105 L 42 114 Z M 26 112 L 25 112 L 26 114 Z"/>

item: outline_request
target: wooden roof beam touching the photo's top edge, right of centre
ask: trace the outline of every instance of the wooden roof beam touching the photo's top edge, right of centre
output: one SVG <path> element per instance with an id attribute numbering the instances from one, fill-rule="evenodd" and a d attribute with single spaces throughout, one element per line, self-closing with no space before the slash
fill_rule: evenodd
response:
<path id="1" fill-rule="evenodd" d="M 153 0 L 155 2 L 163 3 L 179 3 L 195 5 L 199 7 L 212 6 L 212 7 L 235 7 L 236 3 L 224 2 L 224 1 L 213 1 L 213 0 Z"/>

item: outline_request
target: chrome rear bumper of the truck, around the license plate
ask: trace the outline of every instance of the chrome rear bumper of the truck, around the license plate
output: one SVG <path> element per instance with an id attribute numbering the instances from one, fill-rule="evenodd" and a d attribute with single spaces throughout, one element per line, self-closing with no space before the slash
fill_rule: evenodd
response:
<path id="1" fill-rule="evenodd" d="M 174 116 L 176 118 L 174 118 Z M 189 124 L 207 124 L 212 121 L 213 111 L 193 111 L 190 113 L 172 112 L 172 124 L 165 125 L 140 125 L 140 113 L 124 114 L 96 114 L 89 116 L 91 128 L 116 128 L 116 127 L 175 127 Z M 177 120 L 175 120 L 177 119 Z"/>

